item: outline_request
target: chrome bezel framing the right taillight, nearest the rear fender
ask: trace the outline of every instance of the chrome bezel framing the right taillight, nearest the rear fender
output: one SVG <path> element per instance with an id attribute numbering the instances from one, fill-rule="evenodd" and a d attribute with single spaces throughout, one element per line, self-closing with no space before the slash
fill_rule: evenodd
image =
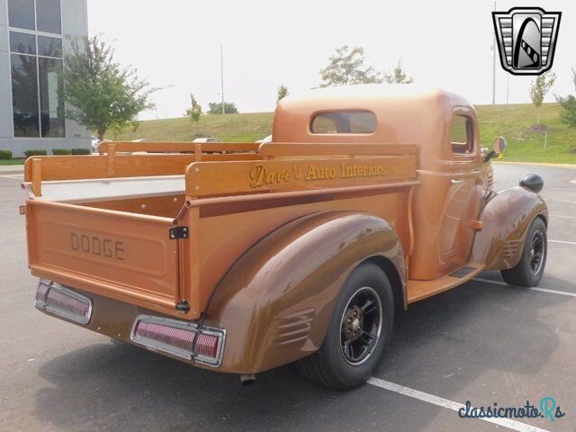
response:
<path id="1" fill-rule="evenodd" d="M 145 338 L 139 336 L 136 333 L 138 329 L 138 324 L 140 322 L 148 322 L 152 324 L 157 324 L 160 326 L 165 326 L 168 328 L 175 328 L 175 329 L 184 329 L 188 331 L 192 331 L 194 333 L 194 338 L 198 338 L 199 334 L 206 334 L 211 335 L 217 338 L 218 340 L 218 347 L 216 351 L 216 357 L 212 358 L 209 356 L 201 356 L 196 354 L 194 356 L 192 351 L 188 351 L 185 349 L 180 349 L 178 347 L 174 347 L 169 344 L 162 343 L 155 339 Z M 147 347 L 148 349 L 152 349 L 155 351 L 161 351 L 172 356 L 181 357 L 188 361 L 196 361 L 202 365 L 209 365 L 212 367 L 218 367 L 222 363 L 222 356 L 224 355 L 224 346 L 226 344 L 226 330 L 225 329 L 216 329 L 209 326 L 202 326 L 202 329 L 199 331 L 198 324 L 195 322 L 190 321 L 182 321 L 182 320 L 173 320 L 170 318 L 164 317 L 157 317 L 155 315 L 139 315 L 134 320 L 132 324 L 132 329 L 130 331 L 130 340 L 135 344 L 141 345 L 143 347 Z M 197 350 L 196 350 L 197 351 Z"/>

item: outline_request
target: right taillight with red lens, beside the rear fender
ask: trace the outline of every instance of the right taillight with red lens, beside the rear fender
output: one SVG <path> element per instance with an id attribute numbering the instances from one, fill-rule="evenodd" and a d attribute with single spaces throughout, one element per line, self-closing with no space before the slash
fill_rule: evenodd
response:
<path id="1" fill-rule="evenodd" d="M 226 330 L 198 326 L 193 322 L 139 315 L 130 338 L 133 342 L 186 360 L 220 366 Z M 195 353 L 194 353 L 195 343 Z"/>

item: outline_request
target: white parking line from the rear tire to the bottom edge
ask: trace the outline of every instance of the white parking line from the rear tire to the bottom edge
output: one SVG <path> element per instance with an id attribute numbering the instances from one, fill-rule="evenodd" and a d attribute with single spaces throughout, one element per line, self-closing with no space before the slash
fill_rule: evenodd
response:
<path id="1" fill-rule="evenodd" d="M 381 389 L 389 390 L 390 392 L 396 392 L 403 394 L 404 396 L 409 396 L 410 398 L 418 399 L 419 401 L 425 401 L 438 407 L 447 408 L 448 410 L 458 411 L 460 409 L 466 409 L 466 406 L 462 403 L 450 401 L 448 399 L 435 396 L 434 394 L 420 392 L 419 390 L 410 389 L 410 387 L 405 387 L 400 384 L 391 383 L 389 381 L 381 380 L 380 378 L 370 378 L 368 380 L 369 384 L 372 384 Z M 494 423 L 496 425 L 503 426 L 504 428 L 509 428 L 512 430 L 518 430 L 519 432 L 549 432 L 546 429 L 536 428 L 536 426 L 530 426 L 526 423 L 521 423 L 512 419 L 480 419 Z"/>

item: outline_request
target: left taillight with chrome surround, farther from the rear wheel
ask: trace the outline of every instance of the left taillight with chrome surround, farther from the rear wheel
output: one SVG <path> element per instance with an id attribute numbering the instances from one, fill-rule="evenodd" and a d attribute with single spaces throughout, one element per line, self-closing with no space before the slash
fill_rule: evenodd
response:
<path id="1" fill-rule="evenodd" d="M 92 315 L 92 300 L 46 279 L 40 279 L 34 306 L 78 324 L 87 324 Z"/>

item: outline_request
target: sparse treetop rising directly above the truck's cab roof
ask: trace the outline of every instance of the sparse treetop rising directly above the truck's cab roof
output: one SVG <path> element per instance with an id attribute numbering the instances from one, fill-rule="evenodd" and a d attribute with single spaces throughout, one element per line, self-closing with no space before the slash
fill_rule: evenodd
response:
<path id="1" fill-rule="evenodd" d="M 362 47 L 337 48 L 336 54 L 329 58 L 329 65 L 320 69 L 320 87 L 382 83 L 382 74 L 372 66 L 366 67 L 365 61 Z"/>

